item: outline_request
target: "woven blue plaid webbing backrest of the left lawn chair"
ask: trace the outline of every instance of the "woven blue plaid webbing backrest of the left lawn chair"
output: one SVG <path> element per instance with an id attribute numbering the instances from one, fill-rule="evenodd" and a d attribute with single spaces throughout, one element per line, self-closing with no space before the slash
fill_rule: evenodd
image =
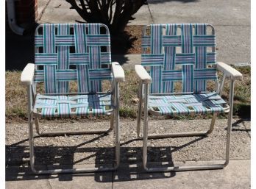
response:
<path id="1" fill-rule="evenodd" d="M 42 24 L 35 31 L 35 82 L 45 93 L 100 92 L 112 79 L 110 32 L 104 24 Z"/>

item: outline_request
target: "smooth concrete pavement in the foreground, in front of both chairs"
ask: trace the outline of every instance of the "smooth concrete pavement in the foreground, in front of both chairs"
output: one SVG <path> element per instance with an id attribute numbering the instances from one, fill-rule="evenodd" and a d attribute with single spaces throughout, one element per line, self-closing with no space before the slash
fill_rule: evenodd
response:
<path id="1" fill-rule="evenodd" d="M 194 162 L 193 162 L 194 163 Z M 197 163 L 202 163 L 201 161 Z M 205 162 L 203 162 L 205 163 Z M 219 163 L 218 161 L 210 163 Z M 135 168 L 133 168 L 134 170 Z M 231 160 L 227 168 L 209 171 L 142 173 L 129 165 L 109 173 L 35 176 L 29 168 L 12 167 L 6 171 L 6 188 L 186 188 L 246 189 L 250 188 L 250 160 Z M 18 174 L 17 174 L 18 172 Z M 14 177 L 13 175 L 17 176 Z"/>

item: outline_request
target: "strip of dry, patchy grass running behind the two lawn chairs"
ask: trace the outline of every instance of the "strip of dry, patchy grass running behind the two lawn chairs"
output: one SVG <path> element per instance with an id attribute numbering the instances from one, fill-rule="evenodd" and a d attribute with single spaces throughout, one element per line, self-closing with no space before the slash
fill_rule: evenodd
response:
<path id="1" fill-rule="evenodd" d="M 243 74 L 242 81 L 235 82 L 234 96 L 234 115 L 240 118 L 250 118 L 251 107 L 251 69 L 246 67 L 235 67 Z M 21 85 L 20 71 L 6 72 L 6 121 L 24 120 L 26 118 L 26 87 Z M 138 84 L 139 80 L 135 71 L 125 71 L 126 81 L 120 84 L 120 116 L 123 118 L 136 118 L 138 110 Z M 109 83 L 104 83 L 104 88 L 109 88 Z M 74 90 L 76 84 L 71 84 Z M 179 85 L 178 85 L 179 88 Z M 212 89 L 210 84 L 208 89 Z M 43 93 L 43 86 L 39 86 L 39 93 Z M 229 81 L 225 82 L 224 93 L 225 100 L 229 99 Z M 225 117 L 225 115 L 220 115 Z M 182 115 L 175 117 L 177 119 L 187 118 Z M 193 117 L 190 117 L 193 118 Z M 203 118 L 210 118 L 205 115 Z"/>

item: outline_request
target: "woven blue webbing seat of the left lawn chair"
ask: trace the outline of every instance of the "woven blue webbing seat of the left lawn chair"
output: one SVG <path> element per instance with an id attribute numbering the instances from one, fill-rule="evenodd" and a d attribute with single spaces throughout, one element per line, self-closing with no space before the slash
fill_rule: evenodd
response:
<path id="1" fill-rule="evenodd" d="M 113 111 L 111 94 L 49 96 L 38 94 L 34 113 L 42 117 L 110 115 Z"/>

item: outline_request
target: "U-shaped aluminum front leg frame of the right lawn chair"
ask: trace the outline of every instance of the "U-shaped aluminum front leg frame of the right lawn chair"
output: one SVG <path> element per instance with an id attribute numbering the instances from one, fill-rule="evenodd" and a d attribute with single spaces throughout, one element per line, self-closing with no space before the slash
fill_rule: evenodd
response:
<path id="1" fill-rule="evenodd" d="M 234 85 L 235 81 L 230 80 L 230 112 L 227 120 L 227 142 L 225 151 L 225 161 L 223 164 L 216 165 L 191 165 L 191 166 L 171 166 L 165 168 L 148 168 L 147 167 L 147 140 L 148 140 L 148 86 L 146 85 L 145 99 L 144 99 L 144 126 L 143 126 L 143 168 L 148 172 L 166 172 L 166 171 L 196 171 L 196 170 L 211 170 L 221 169 L 228 165 L 230 162 L 230 140 L 232 130 L 232 109 L 234 98 Z M 214 122 L 216 116 L 214 116 Z M 213 120 L 212 120 L 213 122 Z"/>

